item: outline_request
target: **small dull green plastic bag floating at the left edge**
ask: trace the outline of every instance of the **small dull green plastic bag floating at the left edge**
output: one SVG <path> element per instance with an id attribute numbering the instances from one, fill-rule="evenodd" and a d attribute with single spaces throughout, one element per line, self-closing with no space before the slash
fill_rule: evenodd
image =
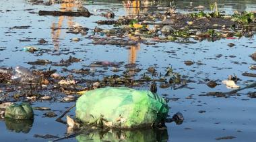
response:
<path id="1" fill-rule="evenodd" d="M 11 119 L 34 119 L 33 109 L 27 102 L 11 104 L 5 110 L 5 118 Z"/>

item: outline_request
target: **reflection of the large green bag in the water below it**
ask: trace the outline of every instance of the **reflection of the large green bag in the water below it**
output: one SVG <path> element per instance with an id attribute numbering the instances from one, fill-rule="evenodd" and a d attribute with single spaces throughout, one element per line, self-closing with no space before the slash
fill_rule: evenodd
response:
<path id="1" fill-rule="evenodd" d="M 168 141 L 167 129 L 139 129 L 133 131 L 107 131 L 82 133 L 76 137 L 77 141 Z"/>

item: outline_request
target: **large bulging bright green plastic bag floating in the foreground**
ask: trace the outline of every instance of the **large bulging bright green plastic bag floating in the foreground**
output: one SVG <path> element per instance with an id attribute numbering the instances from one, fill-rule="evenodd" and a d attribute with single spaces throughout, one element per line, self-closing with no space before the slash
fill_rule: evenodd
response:
<path id="1" fill-rule="evenodd" d="M 108 87 L 90 90 L 79 97 L 75 115 L 90 125 L 132 129 L 163 122 L 168 105 L 148 90 Z"/>

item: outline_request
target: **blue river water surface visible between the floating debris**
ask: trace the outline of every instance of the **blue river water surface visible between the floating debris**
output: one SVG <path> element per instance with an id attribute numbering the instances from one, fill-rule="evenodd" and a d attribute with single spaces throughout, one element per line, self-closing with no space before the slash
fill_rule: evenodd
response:
<path id="1" fill-rule="evenodd" d="M 255 52 L 255 38 L 241 38 L 233 40 L 218 40 L 216 42 L 208 42 L 206 40 L 197 42 L 196 44 L 178 44 L 173 42 L 158 43 L 154 46 L 139 44 L 138 46 L 100 46 L 93 45 L 92 40 L 88 37 L 92 36 L 94 27 L 112 28 L 108 25 L 98 25 L 95 21 L 106 19 L 105 17 L 96 15 L 103 13 L 97 9 L 113 9 L 115 15 L 137 14 L 138 12 L 146 13 L 156 9 L 141 8 L 127 9 L 123 7 L 121 1 L 84 1 L 84 3 L 63 3 L 53 5 L 40 5 L 33 3 L 34 1 L 25 0 L 2 0 L 0 1 L 0 47 L 4 49 L 0 51 L 0 66 L 26 66 L 28 68 L 49 68 L 49 66 L 30 66 L 29 61 L 37 59 L 47 59 L 52 62 L 59 62 L 61 59 L 67 59 L 69 56 L 81 58 L 83 62 L 73 63 L 68 69 L 83 68 L 90 65 L 94 61 L 108 62 L 125 62 L 125 64 L 136 63 L 138 67 L 146 72 L 149 66 L 155 66 L 158 72 L 164 74 L 164 70 L 168 66 L 172 66 L 175 72 L 188 76 L 189 83 L 187 87 L 182 89 L 163 88 L 158 89 L 158 94 L 171 99 L 168 102 L 171 107 L 169 115 L 172 116 L 178 111 L 183 113 L 185 122 L 182 125 L 167 123 L 168 129 L 164 133 L 155 133 L 153 131 L 141 130 L 140 133 L 133 133 L 131 139 L 127 141 L 135 141 L 134 137 L 140 137 L 137 141 L 146 141 L 146 137 L 152 137 L 152 141 L 156 139 L 168 139 L 168 141 L 216 141 L 217 137 L 234 136 L 236 138 L 230 141 L 255 141 L 256 135 L 256 115 L 255 115 L 255 98 L 249 98 L 247 92 L 255 91 L 248 89 L 240 92 L 239 96 L 230 96 L 228 98 L 216 98 L 213 96 L 199 96 L 205 92 L 222 91 L 226 92 L 230 89 L 222 84 L 222 80 L 226 80 L 228 75 L 236 74 L 241 81 L 239 86 L 250 84 L 255 78 L 245 77 L 243 72 L 253 72 L 249 66 L 255 65 L 249 55 Z M 45 1 L 44 1 L 45 2 Z M 175 1 L 178 11 L 188 12 L 186 7 L 191 6 L 191 1 Z M 204 5 L 208 7 L 209 1 L 193 1 L 192 6 Z M 148 5 L 169 6 L 170 1 L 160 1 L 159 3 L 150 3 Z M 172 3 L 173 4 L 173 3 Z M 256 1 L 218 1 L 219 7 L 226 13 L 232 13 L 234 10 L 254 10 Z M 73 10 L 75 7 L 84 5 L 94 15 L 91 17 L 52 17 L 39 16 L 39 10 Z M 117 19 L 117 17 L 115 17 Z M 66 33 L 67 28 L 74 23 L 79 23 L 90 28 L 88 35 L 82 37 L 72 33 Z M 14 26 L 29 26 L 26 29 L 12 28 Z M 53 30 L 56 28 L 56 30 Z M 44 38 L 47 44 L 38 44 L 38 40 Z M 71 38 L 81 38 L 79 42 L 71 42 Z M 236 46 L 230 48 L 227 44 L 233 43 Z M 49 50 L 43 54 L 31 54 L 24 52 L 24 46 L 36 46 L 40 49 Z M 61 53 L 61 54 L 59 54 Z M 63 54 L 65 53 L 65 54 Z M 184 61 L 193 60 L 195 64 L 186 66 Z M 53 67 L 59 70 L 59 74 L 63 67 Z M 124 70 L 121 67 L 121 70 Z M 96 70 L 104 70 L 96 68 Z M 104 75 L 115 74 L 108 68 L 104 74 L 96 73 L 96 76 L 81 76 L 82 78 L 98 79 Z M 209 80 L 216 80 L 220 85 L 215 88 L 209 88 L 206 83 Z M 158 83 L 159 85 L 159 83 Z M 148 86 L 141 87 L 149 88 Z M 188 97 L 189 96 L 189 97 Z M 74 102 L 73 102 L 74 103 Z M 61 115 L 66 107 L 73 103 L 61 102 L 34 102 L 34 106 L 49 106 L 52 110 L 56 110 L 57 115 Z M 204 112 L 205 113 L 199 113 Z M 20 127 L 30 127 L 30 123 L 24 123 L 24 126 L 10 126 L 5 121 L 0 122 L 0 140 L 1 141 L 48 141 L 33 137 L 35 134 L 40 135 L 57 135 L 62 137 L 65 135 L 66 126 L 57 123 L 53 118 L 42 117 L 43 111 L 34 111 L 35 119 L 32 122 L 32 128 L 24 130 L 22 133 L 18 130 Z M 70 114 L 74 115 L 74 111 Z M 15 125 L 15 124 L 13 124 Z M 18 128 L 17 128 L 18 127 Z M 151 135 L 152 134 L 152 135 Z M 92 139 L 99 141 L 97 137 L 100 134 L 95 133 Z M 88 141 L 91 135 L 79 135 L 76 138 L 67 139 L 65 141 Z M 108 137 L 117 137 L 115 134 L 108 134 Z M 111 141 L 112 139 L 104 140 Z M 148 141 L 148 140 L 147 140 Z M 226 141 L 226 140 L 224 140 Z"/>

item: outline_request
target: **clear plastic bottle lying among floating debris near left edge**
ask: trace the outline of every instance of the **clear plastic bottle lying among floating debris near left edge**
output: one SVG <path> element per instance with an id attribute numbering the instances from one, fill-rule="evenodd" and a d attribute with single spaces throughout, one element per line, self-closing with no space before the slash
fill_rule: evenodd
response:
<path id="1" fill-rule="evenodd" d="M 25 84 L 38 84 L 40 82 L 40 76 L 35 76 L 23 66 L 16 66 L 13 69 L 11 80 Z"/>

